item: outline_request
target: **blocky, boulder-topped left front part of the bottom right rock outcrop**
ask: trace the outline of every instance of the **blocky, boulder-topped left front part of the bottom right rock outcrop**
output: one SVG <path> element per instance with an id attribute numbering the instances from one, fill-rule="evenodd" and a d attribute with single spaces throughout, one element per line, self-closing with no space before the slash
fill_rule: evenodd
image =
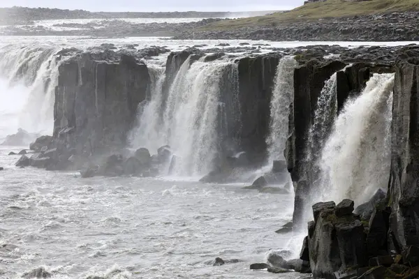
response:
<path id="1" fill-rule="evenodd" d="M 366 265 L 364 226 L 352 211 L 350 200 L 314 204 L 308 236 L 314 278 L 335 278 L 337 271 Z"/>

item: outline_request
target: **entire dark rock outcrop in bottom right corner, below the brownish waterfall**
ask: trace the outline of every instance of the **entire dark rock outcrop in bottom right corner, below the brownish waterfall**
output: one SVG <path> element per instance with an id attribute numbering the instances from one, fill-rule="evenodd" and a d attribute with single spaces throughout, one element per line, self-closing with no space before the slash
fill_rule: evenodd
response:
<path id="1" fill-rule="evenodd" d="M 372 207 L 358 207 L 357 214 L 350 199 L 312 206 L 314 221 L 308 224 L 300 258 L 310 263 L 314 278 L 419 276 L 419 248 L 398 245 L 389 231 L 392 209 L 387 204 L 384 198 Z"/>

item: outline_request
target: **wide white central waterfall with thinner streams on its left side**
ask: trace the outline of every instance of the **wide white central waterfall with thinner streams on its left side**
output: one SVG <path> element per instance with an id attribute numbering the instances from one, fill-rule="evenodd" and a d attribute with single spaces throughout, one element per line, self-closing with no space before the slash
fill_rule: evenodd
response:
<path id="1" fill-rule="evenodd" d="M 175 175 L 198 176 L 210 172 L 222 151 L 223 135 L 231 133 L 230 104 L 226 104 L 230 96 L 223 95 L 235 93 L 226 92 L 223 84 L 238 86 L 237 65 L 230 61 L 191 63 L 189 57 L 167 92 L 163 92 L 162 86 L 164 73 L 160 71 L 158 75 L 152 77 L 151 99 L 140 107 L 139 126 L 131 133 L 131 146 L 155 151 L 169 145 L 177 156 Z M 232 80 L 226 81 L 229 78 Z"/>

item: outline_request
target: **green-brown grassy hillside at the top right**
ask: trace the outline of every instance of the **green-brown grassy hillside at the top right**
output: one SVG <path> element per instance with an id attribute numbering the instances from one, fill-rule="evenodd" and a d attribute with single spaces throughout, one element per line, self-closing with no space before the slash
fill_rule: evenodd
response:
<path id="1" fill-rule="evenodd" d="M 419 0 L 370 0 L 344 1 L 328 0 L 308 3 L 286 13 L 274 13 L 261 17 L 247 17 L 239 20 L 228 20 L 209 24 L 203 29 L 234 29 L 240 27 L 298 22 L 300 20 L 318 20 L 320 18 L 347 17 L 374 13 L 419 10 Z"/>

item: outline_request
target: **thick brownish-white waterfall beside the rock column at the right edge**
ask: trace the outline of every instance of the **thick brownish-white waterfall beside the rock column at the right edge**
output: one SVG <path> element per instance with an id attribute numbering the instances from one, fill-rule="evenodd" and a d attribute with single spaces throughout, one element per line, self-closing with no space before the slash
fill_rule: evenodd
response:
<path id="1" fill-rule="evenodd" d="M 321 152 L 323 199 L 365 202 L 388 183 L 394 74 L 374 74 L 348 100 Z"/>

